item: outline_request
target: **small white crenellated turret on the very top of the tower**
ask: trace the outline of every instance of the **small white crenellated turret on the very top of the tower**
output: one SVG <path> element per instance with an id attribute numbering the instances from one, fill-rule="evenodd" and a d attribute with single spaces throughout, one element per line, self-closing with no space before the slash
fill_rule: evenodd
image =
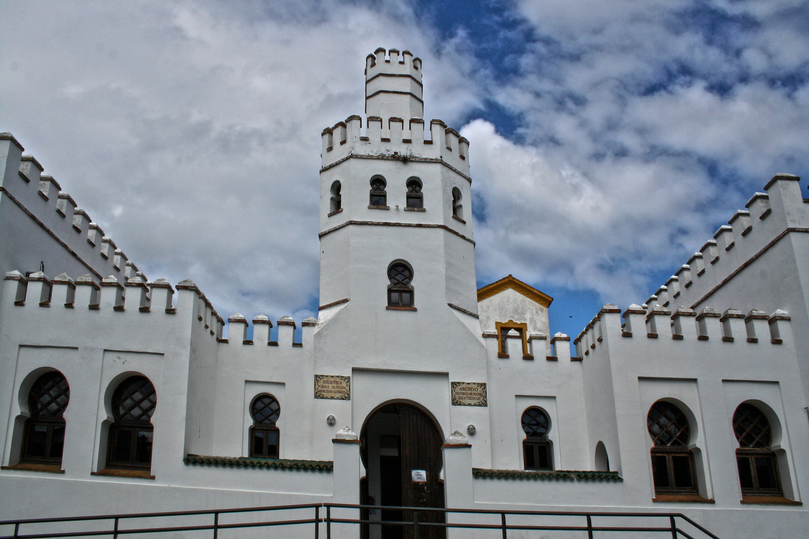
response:
<path id="1" fill-rule="evenodd" d="M 377 48 L 366 57 L 365 113 L 388 120 L 422 118 L 421 60 L 410 51 Z"/>

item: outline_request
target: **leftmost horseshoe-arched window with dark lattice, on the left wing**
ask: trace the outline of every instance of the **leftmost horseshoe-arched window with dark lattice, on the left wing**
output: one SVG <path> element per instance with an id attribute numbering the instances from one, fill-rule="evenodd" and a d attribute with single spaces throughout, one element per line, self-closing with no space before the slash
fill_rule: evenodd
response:
<path id="1" fill-rule="evenodd" d="M 36 379 L 28 393 L 28 411 L 20 461 L 35 464 L 61 464 L 65 445 L 65 413 L 70 402 L 70 386 L 57 371 Z"/>

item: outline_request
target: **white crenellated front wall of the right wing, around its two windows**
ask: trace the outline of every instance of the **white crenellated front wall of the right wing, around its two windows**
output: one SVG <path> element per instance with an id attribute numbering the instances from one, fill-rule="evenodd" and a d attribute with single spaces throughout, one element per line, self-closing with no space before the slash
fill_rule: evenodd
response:
<path id="1" fill-rule="evenodd" d="M 785 495 L 799 499 L 805 482 L 807 440 L 803 390 L 790 317 L 782 310 L 674 312 L 656 305 L 604 308 L 576 339 L 588 388 L 587 429 L 591 451 L 604 442 L 611 470 L 633 482 L 637 503 L 654 497 L 648 452 L 651 439 L 640 428 L 660 398 L 675 402 L 692 424 L 692 449 L 699 492 L 718 507 L 733 507 L 741 497 L 735 470 L 731 418 L 741 402 L 761 402 L 773 411 L 776 427 L 794 427 L 773 448 L 782 451 Z M 780 425 L 780 427 L 779 427 Z M 801 444 L 804 442 L 802 441 Z M 644 465 L 638 465 L 644 463 Z"/>

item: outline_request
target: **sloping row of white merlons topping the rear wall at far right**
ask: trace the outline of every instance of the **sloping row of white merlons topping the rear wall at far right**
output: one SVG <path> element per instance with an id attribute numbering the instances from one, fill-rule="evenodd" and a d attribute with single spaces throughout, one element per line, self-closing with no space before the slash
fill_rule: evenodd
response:
<path id="1" fill-rule="evenodd" d="M 731 279 L 748 283 L 745 268 L 767 257 L 787 235 L 809 232 L 809 204 L 803 200 L 799 180 L 795 175 L 774 175 L 764 192 L 753 194 L 746 209 L 720 226 L 646 304 L 701 309 Z M 752 286 L 757 278 L 751 274 L 749 279 Z"/>

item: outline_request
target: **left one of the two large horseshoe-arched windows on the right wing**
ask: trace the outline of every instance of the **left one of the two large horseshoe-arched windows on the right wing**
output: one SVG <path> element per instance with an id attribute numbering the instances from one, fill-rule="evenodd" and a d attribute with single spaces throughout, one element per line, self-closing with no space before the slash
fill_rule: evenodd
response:
<path id="1" fill-rule="evenodd" d="M 654 491 L 662 494 L 697 494 L 694 457 L 688 449 L 691 427 L 680 408 L 658 401 L 646 416 L 654 442 L 651 451 Z"/>

